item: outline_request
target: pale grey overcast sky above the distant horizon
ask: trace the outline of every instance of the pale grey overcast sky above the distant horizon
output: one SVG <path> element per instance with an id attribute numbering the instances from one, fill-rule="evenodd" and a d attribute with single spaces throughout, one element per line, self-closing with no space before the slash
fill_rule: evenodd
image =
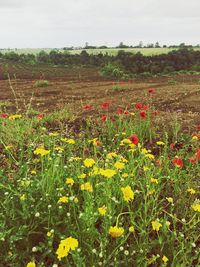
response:
<path id="1" fill-rule="evenodd" d="M 200 0 L 0 0 L 0 48 L 200 44 Z"/>

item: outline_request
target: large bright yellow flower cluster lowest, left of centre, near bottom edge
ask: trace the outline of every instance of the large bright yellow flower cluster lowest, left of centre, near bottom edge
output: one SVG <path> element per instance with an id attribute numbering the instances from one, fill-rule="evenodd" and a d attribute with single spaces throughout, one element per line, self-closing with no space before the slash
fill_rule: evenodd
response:
<path id="1" fill-rule="evenodd" d="M 57 258 L 61 260 L 64 257 L 67 257 L 70 250 L 75 250 L 78 247 L 78 240 L 73 237 L 68 237 L 60 241 L 59 247 L 56 251 Z"/>

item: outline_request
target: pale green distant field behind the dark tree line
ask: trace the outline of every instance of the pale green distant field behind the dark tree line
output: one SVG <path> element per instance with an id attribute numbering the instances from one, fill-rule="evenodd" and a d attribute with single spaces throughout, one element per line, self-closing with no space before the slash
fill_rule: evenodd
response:
<path id="1" fill-rule="evenodd" d="M 52 48 L 53 49 L 53 48 Z M 24 48 L 24 49 L 4 49 L 1 50 L 0 52 L 2 53 L 6 53 L 6 52 L 11 52 L 14 51 L 16 53 L 19 54 L 38 54 L 40 51 L 44 50 L 45 52 L 49 53 L 51 50 L 51 48 L 44 48 L 44 49 L 40 49 L 40 48 Z M 63 49 L 56 49 L 56 50 L 60 50 L 63 52 Z M 176 50 L 176 48 L 123 48 L 123 49 L 119 49 L 119 48 L 107 48 L 107 49 L 87 49 L 87 52 L 89 54 L 106 54 L 108 53 L 108 55 L 113 55 L 115 56 L 119 50 L 124 50 L 126 52 L 131 52 L 131 53 L 142 53 L 144 56 L 151 56 L 151 55 L 160 55 L 160 54 L 167 54 L 170 51 Z M 200 50 L 200 48 L 194 48 L 194 50 Z M 79 54 L 81 53 L 81 49 L 75 49 L 75 50 L 69 50 L 68 52 L 70 54 Z"/>

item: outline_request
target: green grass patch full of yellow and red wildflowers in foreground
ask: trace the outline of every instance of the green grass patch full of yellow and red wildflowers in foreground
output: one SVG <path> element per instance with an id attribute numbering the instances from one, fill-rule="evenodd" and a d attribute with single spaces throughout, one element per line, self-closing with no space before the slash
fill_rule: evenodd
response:
<path id="1" fill-rule="evenodd" d="M 199 135 L 148 101 L 0 118 L 2 266 L 199 266 Z"/>

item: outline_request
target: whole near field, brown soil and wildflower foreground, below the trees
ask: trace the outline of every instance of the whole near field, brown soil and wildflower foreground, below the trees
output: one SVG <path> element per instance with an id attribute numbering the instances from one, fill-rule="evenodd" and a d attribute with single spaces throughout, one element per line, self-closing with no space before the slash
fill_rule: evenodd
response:
<path id="1" fill-rule="evenodd" d="M 199 75 L 0 78 L 0 266 L 200 266 Z"/>

